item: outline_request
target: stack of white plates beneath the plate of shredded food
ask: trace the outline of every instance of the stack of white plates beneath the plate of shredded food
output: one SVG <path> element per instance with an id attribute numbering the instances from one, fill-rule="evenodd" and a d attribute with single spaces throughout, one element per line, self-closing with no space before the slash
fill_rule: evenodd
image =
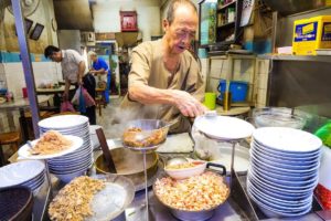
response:
<path id="1" fill-rule="evenodd" d="M 82 115 L 64 115 L 43 119 L 39 123 L 41 134 L 57 130 L 63 135 L 74 135 L 83 139 L 75 151 L 47 160 L 50 172 L 68 182 L 82 176 L 93 165 L 93 149 L 89 137 L 88 118 Z"/>

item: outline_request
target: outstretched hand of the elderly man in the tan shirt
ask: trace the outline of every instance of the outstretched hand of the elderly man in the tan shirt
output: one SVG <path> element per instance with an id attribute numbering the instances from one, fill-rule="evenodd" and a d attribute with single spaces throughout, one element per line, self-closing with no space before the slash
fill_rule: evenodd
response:
<path id="1" fill-rule="evenodd" d="M 206 107 L 203 106 L 195 97 L 188 92 L 173 91 L 174 104 L 186 117 L 196 117 L 203 115 L 206 112 Z"/>

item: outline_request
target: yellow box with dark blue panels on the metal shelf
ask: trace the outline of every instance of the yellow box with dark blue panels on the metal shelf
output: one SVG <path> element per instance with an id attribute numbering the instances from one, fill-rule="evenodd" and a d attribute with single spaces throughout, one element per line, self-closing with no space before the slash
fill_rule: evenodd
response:
<path id="1" fill-rule="evenodd" d="M 317 49 L 331 49 L 331 15 L 295 21 L 293 54 L 316 55 Z"/>

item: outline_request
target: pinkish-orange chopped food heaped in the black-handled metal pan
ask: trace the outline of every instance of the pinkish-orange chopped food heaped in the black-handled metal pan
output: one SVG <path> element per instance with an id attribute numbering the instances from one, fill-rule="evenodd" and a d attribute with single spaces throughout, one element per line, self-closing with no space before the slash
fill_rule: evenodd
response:
<path id="1" fill-rule="evenodd" d="M 223 178 L 211 171 L 184 180 L 158 179 L 154 187 L 160 201 L 185 211 L 212 209 L 223 203 L 229 193 Z"/>

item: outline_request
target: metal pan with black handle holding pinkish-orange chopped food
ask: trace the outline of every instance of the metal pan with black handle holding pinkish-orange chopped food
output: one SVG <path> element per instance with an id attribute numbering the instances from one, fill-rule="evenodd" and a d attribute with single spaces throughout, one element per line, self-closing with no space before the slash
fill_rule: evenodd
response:
<path id="1" fill-rule="evenodd" d="M 226 175 L 226 169 L 223 165 L 218 165 L 218 164 L 213 164 L 213 162 L 207 162 L 207 168 L 209 167 L 218 167 L 218 168 L 222 168 L 222 173 L 221 176 L 225 176 Z M 211 170 L 211 169 L 209 169 Z M 212 170 L 212 171 L 215 171 L 215 170 Z M 217 171 L 218 172 L 218 171 Z M 225 198 L 225 200 L 223 202 L 221 202 L 220 204 L 209 209 L 209 210 L 200 210 L 200 211 L 188 211 L 188 210 L 180 210 L 180 209 L 177 209 L 174 207 L 171 207 L 171 206 L 168 206 L 166 203 L 163 203 L 161 201 L 161 199 L 159 198 L 159 196 L 156 193 L 156 183 L 153 183 L 153 192 L 154 192 L 154 196 L 157 197 L 157 199 L 163 204 L 166 206 L 167 208 L 170 209 L 170 212 L 175 217 L 178 218 L 179 220 L 183 220 L 183 221 L 202 221 L 202 220 L 207 220 L 210 218 L 213 217 L 214 212 L 215 212 L 215 209 L 217 209 L 221 204 L 223 204 L 227 198 L 229 197 L 229 192 L 231 192 L 231 189 L 229 189 L 229 185 L 226 182 L 226 180 L 224 179 L 224 182 L 228 189 L 228 192 L 227 192 L 227 196 Z"/>

